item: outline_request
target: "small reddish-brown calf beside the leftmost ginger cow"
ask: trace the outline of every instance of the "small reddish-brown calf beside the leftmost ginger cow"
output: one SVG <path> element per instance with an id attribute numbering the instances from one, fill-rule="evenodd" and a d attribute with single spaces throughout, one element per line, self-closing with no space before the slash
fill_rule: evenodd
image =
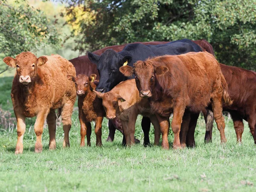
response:
<path id="1" fill-rule="evenodd" d="M 96 96 L 93 90 L 96 89 L 94 80 L 96 74 L 90 77 L 79 74 L 77 77 L 68 76 L 68 79 L 76 84 L 76 94 L 78 97 L 79 121 L 81 124 L 81 143 L 84 146 L 84 137 L 87 137 L 87 145 L 90 146 L 90 136 L 92 132 L 90 122 L 95 122 L 96 146 L 102 146 L 102 121 L 105 111 L 102 106 L 102 99 Z"/>

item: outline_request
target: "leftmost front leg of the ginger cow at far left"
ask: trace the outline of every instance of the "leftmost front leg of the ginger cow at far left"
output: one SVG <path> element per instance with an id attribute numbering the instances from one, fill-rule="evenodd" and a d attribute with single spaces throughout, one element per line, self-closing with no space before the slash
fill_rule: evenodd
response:
<path id="1" fill-rule="evenodd" d="M 23 153 L 23 135 L 26 130 L 25 116 L 15 111 L 15 116 L 17 119 L 17 144 L 15 149 L 15 154 Z"/>

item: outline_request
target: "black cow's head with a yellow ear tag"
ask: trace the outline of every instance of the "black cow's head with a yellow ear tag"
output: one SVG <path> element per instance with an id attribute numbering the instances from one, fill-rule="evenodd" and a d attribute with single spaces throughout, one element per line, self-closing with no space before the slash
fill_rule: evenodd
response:
<path id="1" fill-rule="evenodd" d="M 126 79 L 120 73 L 119 67 L 127 65 L 131 61 L 131 56 L 123 57 L 113 51 L 113 49 L 108 49 L 100 56 L 89 52 L 88 58 L 97 65 L 100 75 L 99 85 L 96 88 L 97 91 L 106 93 Z"/>

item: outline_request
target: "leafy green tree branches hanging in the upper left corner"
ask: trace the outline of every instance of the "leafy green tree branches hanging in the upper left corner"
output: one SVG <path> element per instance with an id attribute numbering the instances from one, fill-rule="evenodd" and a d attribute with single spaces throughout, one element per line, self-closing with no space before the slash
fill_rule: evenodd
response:
<path id="1" fill-rule="evenodd" d="M 29 6 L 26 0 L 0 1 L 1 60 L 59 41 L 57 30 L 40 9 Z M 2 61 L 0 64 L 0 73 L 8 69 Z"/>

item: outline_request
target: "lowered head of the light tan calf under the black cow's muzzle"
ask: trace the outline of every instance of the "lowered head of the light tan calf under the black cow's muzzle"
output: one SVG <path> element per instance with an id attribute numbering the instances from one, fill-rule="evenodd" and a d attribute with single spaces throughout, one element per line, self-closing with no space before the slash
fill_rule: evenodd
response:
<path id="1" fill-rule="evenodd" d="M 102 105 L 106 111 L 107 119 L 115 119 L 116 111 L 119 110 L 119 102 L 125 102 L 125 99 L 116 93 L 100 93 L 98 91 L 95 91 L 95 93 L 102 99 Z"/>

